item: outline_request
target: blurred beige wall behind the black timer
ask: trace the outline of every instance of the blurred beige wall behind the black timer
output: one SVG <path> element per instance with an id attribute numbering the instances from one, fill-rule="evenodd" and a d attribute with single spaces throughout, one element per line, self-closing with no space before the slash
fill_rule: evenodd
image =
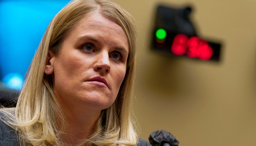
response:
<path id="1" fill-rule="evenodd" d="M 138 73 L 134 113 L 148 140 L 167 130 L 179 146 L 256 145 L 256 1 L 113 0 L 137 20 Z M 222 61 L 171 58 L 150 50 L 158 3 L 192 4 L 202 38 L 222 41 Z"/>

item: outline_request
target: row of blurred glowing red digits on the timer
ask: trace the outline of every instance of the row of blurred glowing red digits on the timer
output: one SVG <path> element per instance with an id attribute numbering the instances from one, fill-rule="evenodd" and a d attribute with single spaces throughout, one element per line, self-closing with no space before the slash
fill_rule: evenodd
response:
<path id="1" fill-rule="evenodd" d="M 173 39 L 171 51 L 175 55 L 187 55 L 190 58 L 209 60 L 212 57 L 212 47 L 199 37 L 188 38 L 187 35 L 177 34 Z"/>

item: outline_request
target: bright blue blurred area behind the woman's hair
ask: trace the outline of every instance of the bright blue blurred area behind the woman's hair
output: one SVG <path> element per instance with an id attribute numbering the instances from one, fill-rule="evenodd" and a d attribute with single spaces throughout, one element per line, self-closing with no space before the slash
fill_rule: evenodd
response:
<path id="1" fill-rule="evenodd" d="M 0 81 L 20 90 L 44 32 L 69 0 L 0 1 Z"/>

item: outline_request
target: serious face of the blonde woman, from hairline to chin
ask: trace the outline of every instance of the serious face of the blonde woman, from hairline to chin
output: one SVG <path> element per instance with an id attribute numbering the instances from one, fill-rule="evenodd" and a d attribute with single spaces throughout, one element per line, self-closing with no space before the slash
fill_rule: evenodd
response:
<path id="1" fill-rule="evenodd" d="M 71 108 L 110 107 L 125 77 L 128 54 L 121 26 L 98 13 L 84 16 L 52 57 L 54 94 Z"/>

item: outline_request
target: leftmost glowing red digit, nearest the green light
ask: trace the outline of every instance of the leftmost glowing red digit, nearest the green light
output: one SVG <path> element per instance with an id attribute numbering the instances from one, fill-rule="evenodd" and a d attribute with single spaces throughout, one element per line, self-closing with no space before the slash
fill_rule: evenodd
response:
<path id="1" fill-rule="evenodd" d="M 187 42 L 187 35 L 177 34 L 173 39 L 172 53 L 175 55 L 184 55 L 187 52 Z"/>

